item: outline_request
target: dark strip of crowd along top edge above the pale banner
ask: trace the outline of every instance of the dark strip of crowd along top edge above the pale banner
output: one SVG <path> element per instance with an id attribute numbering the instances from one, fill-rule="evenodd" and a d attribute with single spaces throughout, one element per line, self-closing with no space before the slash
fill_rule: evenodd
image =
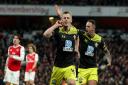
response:
<path id="1" fill-rule="evenodd" d="M 127 0 L 0 0 L 1 4 L 43 4 L 43 5 L 75 5 L 75 6 L 127 6 Z"/>

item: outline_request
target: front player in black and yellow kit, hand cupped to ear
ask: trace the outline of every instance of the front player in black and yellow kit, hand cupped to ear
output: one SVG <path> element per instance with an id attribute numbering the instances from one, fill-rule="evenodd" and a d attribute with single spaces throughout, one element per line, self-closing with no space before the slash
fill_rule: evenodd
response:
<path id="1" fill-rule="evenodd" d="M 68 11 L 63 12 L 61 19 L 44 32 L 45 37 L 54 36 L 57 47 L 50 85 L 61 85 L 63 79 L 68 85 L 76 85 L 74 59 L 78 51 L 77 32 Z"/>

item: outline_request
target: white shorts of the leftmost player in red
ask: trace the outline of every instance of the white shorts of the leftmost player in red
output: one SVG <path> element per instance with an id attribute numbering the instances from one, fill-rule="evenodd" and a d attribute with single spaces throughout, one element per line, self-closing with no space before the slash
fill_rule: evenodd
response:
<path id="1" fill-rule="evenodd" d="M 19 85 L 20 71 L 11 71 L 9 68 L 6 69 L 4 75 L 4 82 L 10 82 L 12 84 Z"/>

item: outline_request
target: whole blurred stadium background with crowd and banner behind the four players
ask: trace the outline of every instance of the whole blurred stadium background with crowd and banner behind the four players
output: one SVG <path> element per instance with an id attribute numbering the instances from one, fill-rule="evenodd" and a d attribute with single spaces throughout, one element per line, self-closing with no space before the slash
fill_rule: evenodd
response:
<path id="1" fill-rule="evenodd" d="M 102 35 L 112 55 L 112 66 L 99 54 L 98 85 L 128 85 L 128 0 L 0 0 L 0 85 L 4 85 L 7 48 L 13 34 L 22 36 L 22 45 L 37 46 L 39 62 L 35 85 L 49 85 L 55 58 L 54 38 L 42 33 L 57 19 L 54 5 L 72 12 L 73 24 L 84 29 L 88 19 L 96 20 L 96 32 Z M 23 65 L 20 85 L 24 85 Z"/>

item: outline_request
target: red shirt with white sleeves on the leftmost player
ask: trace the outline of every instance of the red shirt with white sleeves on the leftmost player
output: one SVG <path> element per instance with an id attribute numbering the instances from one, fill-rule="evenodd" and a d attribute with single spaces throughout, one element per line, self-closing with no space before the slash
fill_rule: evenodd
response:
<path id="1" fill-rule="evenodd" d="M 10 57 L 13 56 L 13 57 Z M 23 46 L 10 46 L 8 48 L 7 66 L 12 71 L 19 71 L 21 68 L 21 61 L 24 60 L 25 49 Z"/>

